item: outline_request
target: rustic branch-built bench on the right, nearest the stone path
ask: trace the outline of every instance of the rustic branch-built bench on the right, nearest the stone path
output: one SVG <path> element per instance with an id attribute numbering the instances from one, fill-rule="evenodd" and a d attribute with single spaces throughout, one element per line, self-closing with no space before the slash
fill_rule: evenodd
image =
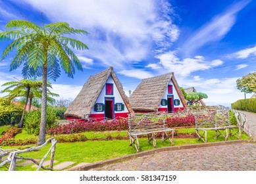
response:
<path id="1" fill-rule="evenodd" d="M 193 112 L 195 116 L 195 131 L 199 136 L 199 140 L 202 139 L 205 143 L 207 142 L 207 130 L 215 130 L 215 139 L 222 135 L 225 137 L 225 141 L 228 140 L 228 130 L 232 135 L 231 130 L 238 128 L 238 131 L 234 131 L 238 135 L 238 139 L 241 139 L 240 126 L 235 126 L 230 123 L 229 111 L 218 110 L 218 109 L 205 109 L 198 112 Z M 226 133 L 222 133 L 221 130 L 225 130 Z M 199 131 L 203 131 L 200 134 Z M 203 136 L 205 135 L 205 139 Z"/>

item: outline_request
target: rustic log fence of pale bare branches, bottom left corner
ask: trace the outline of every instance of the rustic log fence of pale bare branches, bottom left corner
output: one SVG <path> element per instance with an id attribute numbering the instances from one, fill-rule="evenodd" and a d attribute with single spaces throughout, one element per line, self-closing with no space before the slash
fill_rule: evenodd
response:
<path id="1" fill-rule="evenodd" d="M 45 147 L 45 145 L 47 145 L 47 143 L 49 143 L 49 141 L 51 141 L 51 147 L 47 151 L 45 156 L 43 156 L 43 158 L 41 159 L 41 162 L 37 162 L 34 158 L 25 158 L 25 157 L 22 157 L 22 156 L 18 156 L 18 154 L 20 154 L 20 153 L 39 150 L 39 149 Z M 43 143 L 43 145 L 40 145 L 38 147 L 31 147 L 31 148 L 24 149 L 24 150 L 18 150 L 18 149 L 4 150 L 4 149 L 0 148 L 0 162 L 1 162 L 0 167 L 4 166 L 7 163 L 10 163 L 9 171 L 14 171 L 16 169 L 16 160 L 20 159 L 20 160 L 31 160 L 32 162 L 34 162 L 36 165 L 38 165 L 37 171 L 39 171 L 40 168 L 42 168 L 43 170 L 53 170 L 53 162 L 54 162 L 54 156 L 55 156 L 56 143 L 57 143 L 56 139 L 54 139 L 52 137 L 52 138 L 47 139 L 47 141 L 45 141 L 45 143 Z M 50 168 L 45 168 L 43 166 L 43 162 L 45 161 L 45 158 L 47 157 L 49 152 L 51 152 Z M 3 161 L 2 158 L 4 156 L 7 156 L 7 155 L 9 155 L 7 157 L 7 160 Z"/>

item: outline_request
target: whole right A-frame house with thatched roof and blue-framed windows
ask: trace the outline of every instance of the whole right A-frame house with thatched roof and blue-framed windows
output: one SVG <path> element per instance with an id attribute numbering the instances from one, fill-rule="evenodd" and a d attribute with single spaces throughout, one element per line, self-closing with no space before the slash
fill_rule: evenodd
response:
<path id="1" fill-rule="evenodd" d="M 142 80 L 129 101 L 135 112 L 176 112 L 187 107 L 173 72 Z"/>

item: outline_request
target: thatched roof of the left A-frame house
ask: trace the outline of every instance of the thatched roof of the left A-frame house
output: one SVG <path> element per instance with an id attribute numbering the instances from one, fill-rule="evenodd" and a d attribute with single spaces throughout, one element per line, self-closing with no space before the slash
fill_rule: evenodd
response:
<path id="1" fill-rule="evenodd" d="M 74 101 L 68 106 L 65 116 L 73 116 L 76 118 L 85 118 L 86 115 L 91 114 L 91 109 L 93 108 L 99 94 L 101 93 L 105 83 L 109 76 L 112 76 L 115 85 L 126 104 L 129 112 L 133 112 L 130 107 L 128 97 L 125 95 L 124 90 L 122 88 L 122 84 L 118 80 L 115 72 L 113 71 L 113 67 L 108 68 L 107 70 L 103 70 L 98 74 L 90 76 L 88 81 L 82 87 L 80 93 L 74 99 Z"/>

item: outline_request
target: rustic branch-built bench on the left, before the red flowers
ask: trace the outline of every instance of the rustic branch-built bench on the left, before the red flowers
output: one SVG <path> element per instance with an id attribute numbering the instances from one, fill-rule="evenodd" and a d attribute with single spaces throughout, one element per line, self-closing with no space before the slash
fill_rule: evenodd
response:
<path id="1" fill-rule="evenodd" d="M 166 139 L 170 140 L 173 145 L 174 129 L 166 125 L 166 112 L 155 112 L 147 114 L 129 114 L 128 116 L 128 135 L 130 137 L 130 146 L 133 144 L 136 150 L 140 152 L 140 143 L 138 136 L 147 135 L 148 142 L 153 141 L 153 146 L 157 147 L 155 134 L 161 133 L 161 143 Z M 168 131 L 172 131 L 172 137 L 168 135 Z"/>

